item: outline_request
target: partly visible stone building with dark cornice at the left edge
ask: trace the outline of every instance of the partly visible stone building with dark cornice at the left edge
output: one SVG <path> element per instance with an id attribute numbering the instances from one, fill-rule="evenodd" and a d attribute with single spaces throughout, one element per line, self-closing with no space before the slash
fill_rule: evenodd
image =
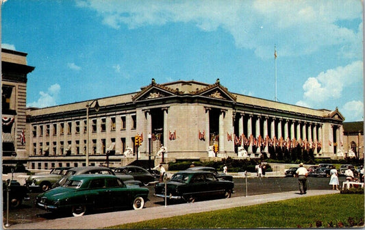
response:
<path id="1" fill-rule="evenodd" d="M 27 53 L 1 49 L 1 121 L 3 164 L 26 163 L 26 97 L 27 74 L 34 67 L 27 65 Z"/>

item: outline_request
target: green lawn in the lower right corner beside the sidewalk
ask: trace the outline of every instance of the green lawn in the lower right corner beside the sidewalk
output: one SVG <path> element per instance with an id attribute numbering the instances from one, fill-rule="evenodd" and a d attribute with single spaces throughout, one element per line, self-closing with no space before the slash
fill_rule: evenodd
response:
<path id="1" fill-rule="evenodd" d="M 364 194 L 331 194 L 147 220 L 108 229 L 327 228 L 364 226 L 363 220 Z"/>

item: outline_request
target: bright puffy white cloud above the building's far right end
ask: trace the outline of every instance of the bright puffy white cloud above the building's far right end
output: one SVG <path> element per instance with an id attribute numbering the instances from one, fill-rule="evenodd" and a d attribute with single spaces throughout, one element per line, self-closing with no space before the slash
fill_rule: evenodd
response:
<path id="1" fill-rule="evenodd" d="M 305 81 L 303 85 L 303 101 L 298 103 L 310 105 L 308 107 L 316 107 L 328 99 L 338 99 L 342 97 L 345 87 L 358 84 L 362 79 L 362 61 L 329 69 Z"/>

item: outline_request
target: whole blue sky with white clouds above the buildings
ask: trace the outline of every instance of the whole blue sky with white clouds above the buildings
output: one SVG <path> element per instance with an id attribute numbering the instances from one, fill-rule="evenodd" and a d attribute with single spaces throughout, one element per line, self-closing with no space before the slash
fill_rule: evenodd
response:
<path id="1" fill-rule="evenodd" d="M 363 120 L 360 0 L 8 0 L 1 45 L 28 53 L 27 106 L 217 78 L 231 92 Z"/>

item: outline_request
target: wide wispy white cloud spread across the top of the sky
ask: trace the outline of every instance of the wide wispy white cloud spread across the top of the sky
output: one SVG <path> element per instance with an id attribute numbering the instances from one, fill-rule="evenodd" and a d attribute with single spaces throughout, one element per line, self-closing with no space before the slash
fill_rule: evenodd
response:
<path id="1" fill-rule="evenodd" d="M 99 1 L 79 0 L 95 10 L 103 23 L 129 29 L 166 23 L 195 23 L 203 31 L 222 27 L 236 46 L 272 57 L 273 43 L 280 56 L 310 54 L 333 44 L 342 57 L 362 57 L 362 25 L 347 28 L 338 21 L 362 19 L 362 1 L 257 0 L 257 1 Z M 262 29 L 264 28 L 264 29 Z M 292 42 L 295 40 L 295 42 Z M 359 46 L 360 45 L 360 46 Z"/>

